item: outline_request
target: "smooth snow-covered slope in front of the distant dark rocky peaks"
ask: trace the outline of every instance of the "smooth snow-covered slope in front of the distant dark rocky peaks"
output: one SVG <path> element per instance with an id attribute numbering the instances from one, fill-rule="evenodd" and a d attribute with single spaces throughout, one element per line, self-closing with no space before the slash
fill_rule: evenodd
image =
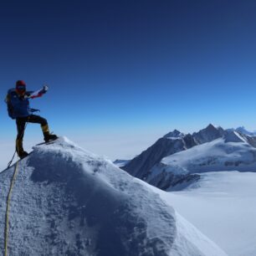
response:
<path id="1" fill-rule="evenodd" d="M 228 141 L 217 139 L 187 151 L 167 156 L 161 163 L 168 166 L 168 170 L 176 172 L 178 166 L 183 172 L 211 172 L 211 171 L 256 171 L 256 148 L 245 141 Z M 179 171 L 177 171 L 179 172 Z"/>

